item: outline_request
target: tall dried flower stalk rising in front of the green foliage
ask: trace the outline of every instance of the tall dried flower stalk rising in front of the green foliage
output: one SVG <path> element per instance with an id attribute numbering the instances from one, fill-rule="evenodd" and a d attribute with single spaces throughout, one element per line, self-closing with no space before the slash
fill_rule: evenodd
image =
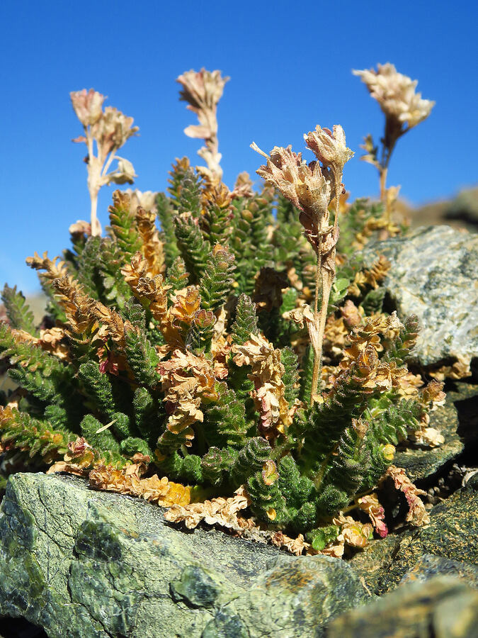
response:
<path id="1" fill-rule="evenodd" d="M 268 184 L 275 186 L 299 209 L 299 220 L 305 229 L 305 237 L 317 255 L 314 314 L 312 317 L 307 313 L 304 315 L 314 349 L 310 398 L 312 404 L 321 379 L 325 323 L 336 273 L 335 255 L 343 167 L 353 156 L 353 152 L 346 146 L 345 133 L 340 125 L 334 125 L 333 132 L 317 125 L 304 138 L 307 147 L 317 157 L 317 161 L 309 164 L 302 159 L 301 153 L 293 152 L 290 146 L 275 146 L 270 155 L 261 151 L 255 142 L 251 144 L 251 148 L 267 159 L 267 164 L 261 166 L 256 171 L 257 174 L 266 179 Z M 329 223 L 329 203 L 332 197 L 336 201 L 334 225 Z"/>

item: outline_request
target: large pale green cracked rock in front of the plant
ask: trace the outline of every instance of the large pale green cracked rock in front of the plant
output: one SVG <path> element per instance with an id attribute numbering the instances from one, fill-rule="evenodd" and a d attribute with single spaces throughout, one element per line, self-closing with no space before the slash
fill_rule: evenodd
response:
<path id="1" fill-rule="evenodd" d="M 0 616 L 50 638 L 320 636 L 368 599 L 326 556 L 293 558 L 74 477 L 16 474 L 0 513 Z"/>

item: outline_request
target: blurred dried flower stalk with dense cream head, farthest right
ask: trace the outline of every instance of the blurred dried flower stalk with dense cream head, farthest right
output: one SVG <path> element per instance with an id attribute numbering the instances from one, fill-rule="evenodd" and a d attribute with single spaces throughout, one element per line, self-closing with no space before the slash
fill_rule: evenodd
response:
<path id="1" fill-rule="evenodd" d="M 385 114 L 385 131 L 381 138 L 382 149 L 380 159 L 378 149 L 374 146 L 372 136 L 365 138 L 363 149 L 366 154 L 361 159 L 377 168 L 380 179 L 380 200 L 385 205 L 388 220 L 391 215 L 393 198 L 387 195 L 387 174 L 397 141 L 411 128 L 426 120 L 435 102 L 424 100 L 421 93 L 416 93 L 418 80 L 397 72 L 389 62 L 377 65 L 375 69 L 353 71 L 367 86 L 372 98 L 376 99 Z"/>

